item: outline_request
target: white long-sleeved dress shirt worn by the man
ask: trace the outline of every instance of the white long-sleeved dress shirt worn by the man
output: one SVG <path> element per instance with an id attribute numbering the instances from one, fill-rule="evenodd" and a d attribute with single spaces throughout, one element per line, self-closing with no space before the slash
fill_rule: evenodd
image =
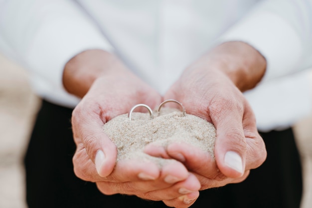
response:
<path id="1" fill-rule="evenodd" d="M 0 50 L 29 70 L 41 97 L 67 107 L 79 99 L 64 90 L 63 68 L 84 50 L 117 54 L 163 94 L 196 58 L 230 40 L 268 63 L 245 93 L 259 130 L 310 113 L 312 0 L 0 0 Z"/>

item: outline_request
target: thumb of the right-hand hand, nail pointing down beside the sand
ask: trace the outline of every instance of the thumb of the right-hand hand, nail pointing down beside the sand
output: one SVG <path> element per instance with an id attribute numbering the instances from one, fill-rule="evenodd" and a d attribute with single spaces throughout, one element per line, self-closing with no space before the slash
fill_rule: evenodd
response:
<path id="1" fill-rule="evenodd" d="M 210 103 L 208 115 L 216 127 L 214 152 L 218 168 L 225 176 L 238 178 L 245 171 L 246 140 L 242 126 L 244 108 L 230 100 L 219 99 Z"/>

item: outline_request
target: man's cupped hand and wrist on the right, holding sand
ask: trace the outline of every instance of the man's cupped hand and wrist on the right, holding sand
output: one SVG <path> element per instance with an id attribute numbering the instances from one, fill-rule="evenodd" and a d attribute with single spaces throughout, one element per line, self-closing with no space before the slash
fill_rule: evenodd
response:
<path id="1" fill-rule="evenodd" d="M 201 189 L 241 182 L 266 159 L 255 116 L 242 94 L 256 86 L 265 68 L 265 59 L 254 48 L 227 42 L 188 67 L 165 94 L 164 99 L 178 100 L 187 113 L 216 127 L 215 160 L 189 145 L 171 144 L 165 150 L 168 158 L 183 162 L 198 177 Z M 163 151 L 152 144 L 145 149 L 153 156 Z"/>

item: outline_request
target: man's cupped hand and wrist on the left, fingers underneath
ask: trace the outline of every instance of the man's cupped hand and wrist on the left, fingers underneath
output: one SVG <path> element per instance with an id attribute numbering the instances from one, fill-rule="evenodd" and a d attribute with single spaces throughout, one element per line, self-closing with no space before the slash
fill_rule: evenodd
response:
<path id="1" fill-rule="evenodd" d="M 63 83 L 68 92 L 83 97 L 72 115 L 77 147 L 73 164 L 79 178 L 95 182 L 106 195 L 136 195 L 181 208 L 191 205 L 200 183 L 182 163 L 172 161 L 161 169 L 135 160 L 116 163 L 117 148 L 102 130 L 107 121 L 136 104 L 152 108 L 159 104 L 161 96 L 153 88 L 101 50 L 85 51 L 70 60 Z"/>

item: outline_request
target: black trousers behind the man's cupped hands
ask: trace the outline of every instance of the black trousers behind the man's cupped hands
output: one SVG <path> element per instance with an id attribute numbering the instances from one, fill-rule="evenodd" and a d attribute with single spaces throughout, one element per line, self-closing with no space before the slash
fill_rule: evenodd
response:
<path id="1" fill-rule="evenodd" d="M 73 172 L 72 109 L 43 101 L 24 158 L 29 208 L 165 208 L 135 196 L 101 194 Z M 191 208 L 299 208 L 302 168 L 291 129 L 261 133 L 268 157 L 240 184 L 209 189 Z"/>

